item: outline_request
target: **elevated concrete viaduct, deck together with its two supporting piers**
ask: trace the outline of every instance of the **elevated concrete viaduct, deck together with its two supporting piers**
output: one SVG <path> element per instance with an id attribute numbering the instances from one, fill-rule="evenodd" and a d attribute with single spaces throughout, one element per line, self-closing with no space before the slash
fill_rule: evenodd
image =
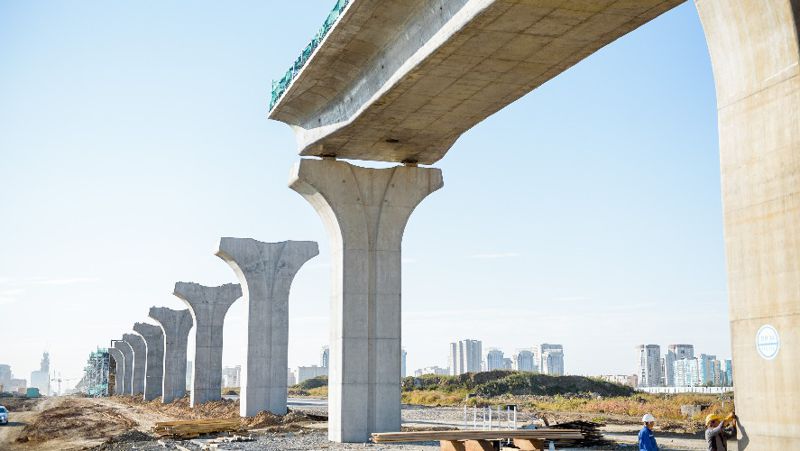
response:
<path id="1" fill-rule="evenodd" d="M 459 136 L 677 0 L 339 0 L 273 86 L 334 251 L 329 437 L 399 430 L 400 241 Z M 695 0 L 717 88 L 740 446 L 800 426 L 796 0 Z M 487 149 L 486 158 L 491 158 Z M 366 169 L 337 159 L 402 163 Z M 385 359 L 379 361 L 380 359 Z"/>

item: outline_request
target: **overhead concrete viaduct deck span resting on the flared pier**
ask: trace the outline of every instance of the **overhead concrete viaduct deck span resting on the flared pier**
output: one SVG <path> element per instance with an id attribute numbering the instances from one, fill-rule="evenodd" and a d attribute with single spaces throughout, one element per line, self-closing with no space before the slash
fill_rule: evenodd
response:
<path id="1" fill-rule="evenodd" d="M 486 117 L 681 3 L 350 2 L 270 118 L 293 126 L 301 155 L 432 164 Z"/>

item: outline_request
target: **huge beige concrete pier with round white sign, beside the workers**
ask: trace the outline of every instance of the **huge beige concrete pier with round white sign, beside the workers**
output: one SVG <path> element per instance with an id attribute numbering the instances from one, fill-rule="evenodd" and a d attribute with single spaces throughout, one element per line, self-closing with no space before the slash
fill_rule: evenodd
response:
<path id="1" fill-rule="evenodd" d="M 717 88 L 739 446 L 796 449 L 800 4 L 695 3 Z M 759 334 L 762 326 L 772 326 L 777 336 Z"/>

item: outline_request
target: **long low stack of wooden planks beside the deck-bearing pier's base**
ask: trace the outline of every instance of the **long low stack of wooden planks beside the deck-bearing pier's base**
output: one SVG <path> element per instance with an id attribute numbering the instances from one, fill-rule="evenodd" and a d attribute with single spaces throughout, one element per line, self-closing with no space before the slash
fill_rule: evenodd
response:
<path id="1" fill-rule="evenodd" d="M 504 440 L 547 439 L 547 440 L 580 440 L 583 438 L 579 429 L 493 429 L 493 430 L 453 430 L 453 431 L 416 431 L 416 432 L 382 432 L 372 434 L 375 443 L 391 442 L 430 442 L 436 440 Z"/>

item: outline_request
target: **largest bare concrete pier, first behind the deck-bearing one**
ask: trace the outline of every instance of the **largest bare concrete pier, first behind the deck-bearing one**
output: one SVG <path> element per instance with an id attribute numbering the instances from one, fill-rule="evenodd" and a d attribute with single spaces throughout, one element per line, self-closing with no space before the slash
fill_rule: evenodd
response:
<path id="1" fill-rule="evenodd" d="M 247 358 L 242 366 L 241 415 L 286 413 L 289 289 L 305 262 L 319 254 L 313 241 L 263 243 L 222 238 L 216 255 L 239 278 L 247 303 Z"/>

